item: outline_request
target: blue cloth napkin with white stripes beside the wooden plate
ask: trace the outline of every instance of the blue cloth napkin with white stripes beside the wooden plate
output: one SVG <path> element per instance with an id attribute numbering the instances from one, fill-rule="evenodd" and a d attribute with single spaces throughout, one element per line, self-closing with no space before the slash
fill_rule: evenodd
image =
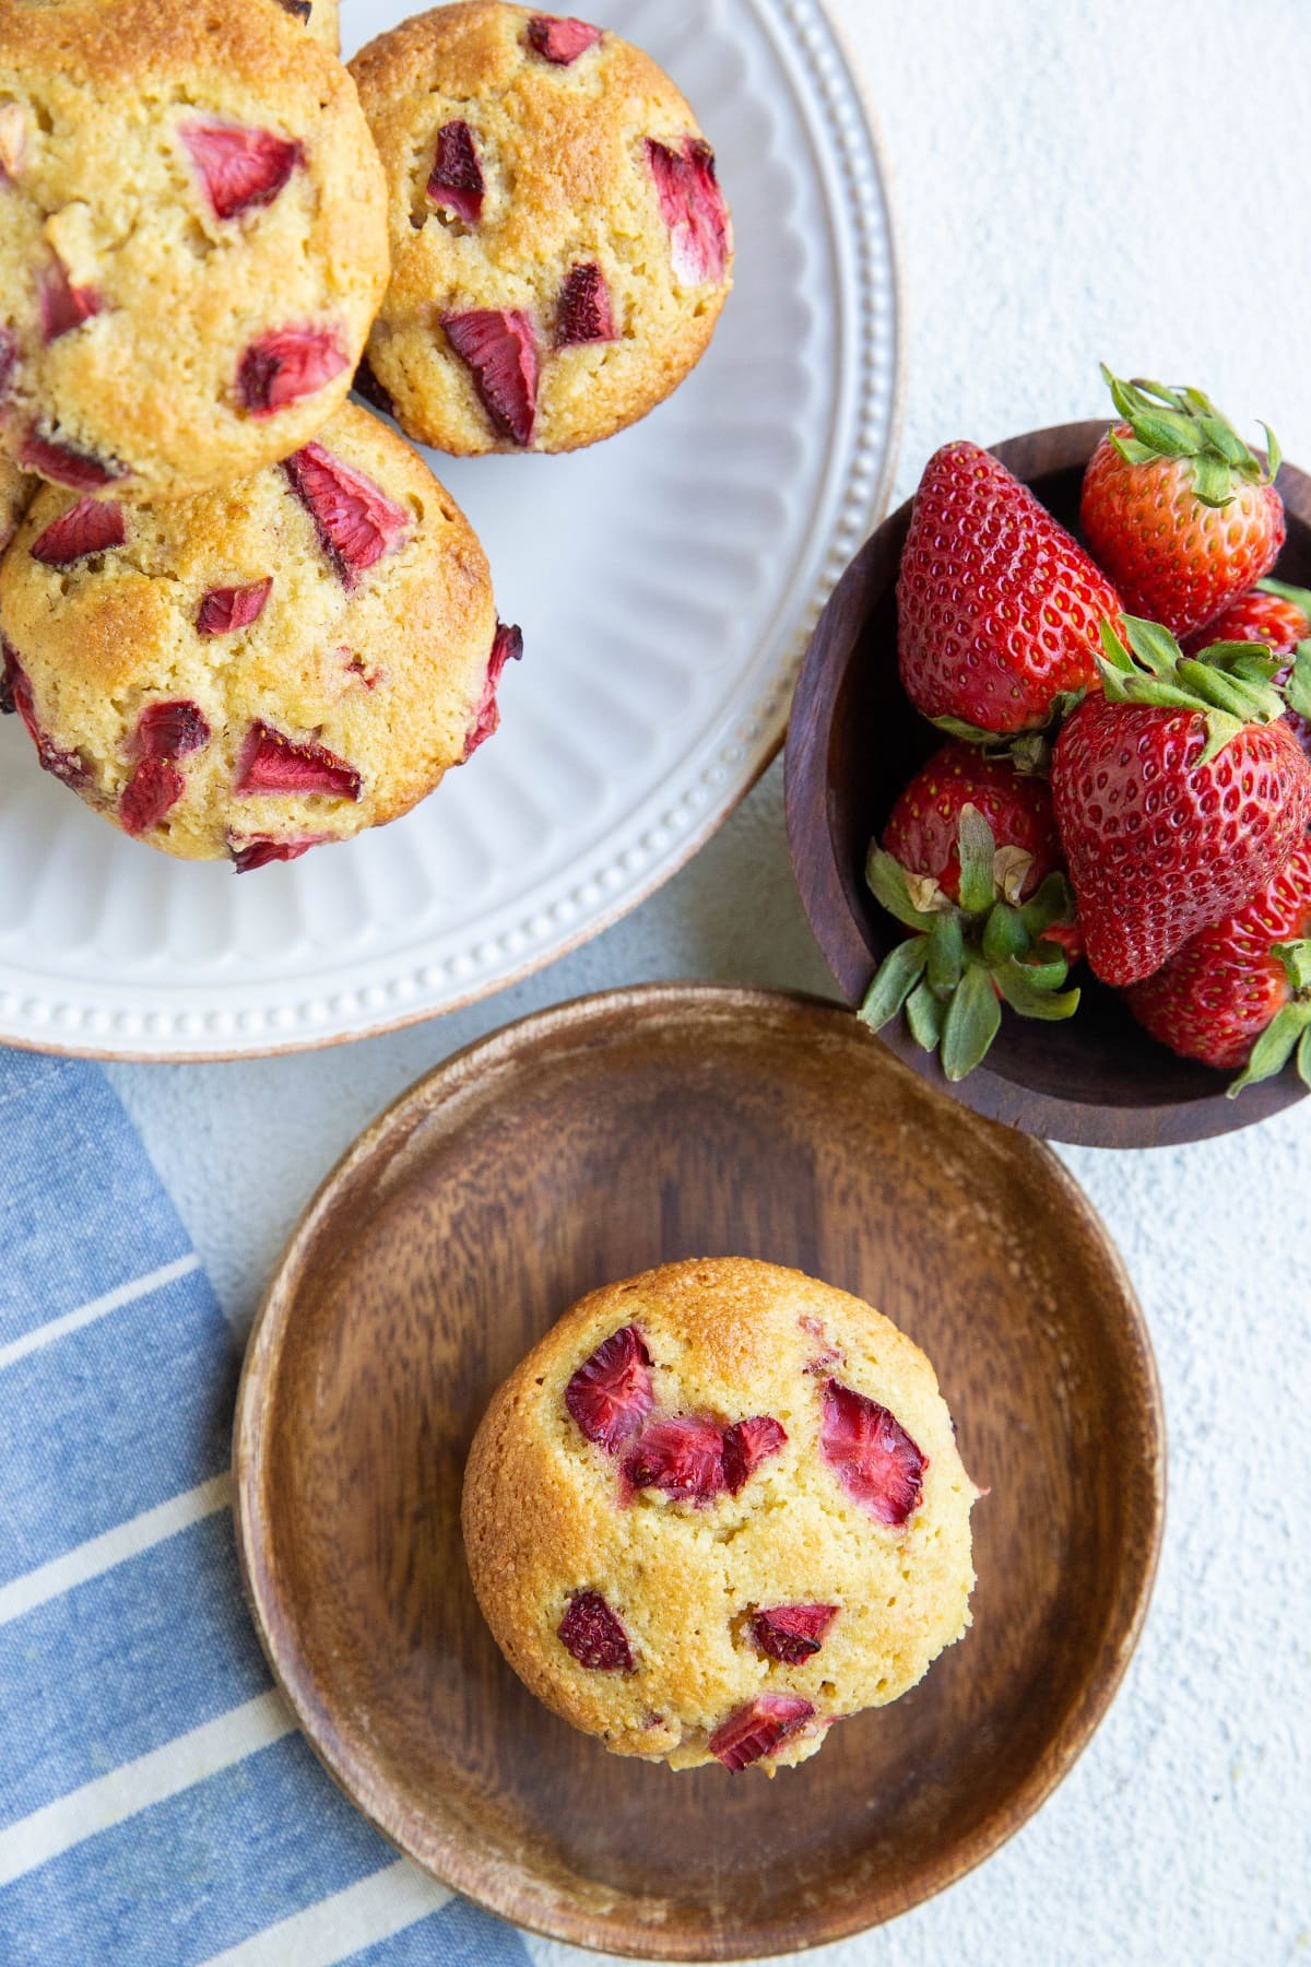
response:
<path id="1" fill-rule="evenodd" d="M 0 1963 L 529 1967 L 273 1692 L 234 1334 L 96 1066 L 0 1050 Z"/>

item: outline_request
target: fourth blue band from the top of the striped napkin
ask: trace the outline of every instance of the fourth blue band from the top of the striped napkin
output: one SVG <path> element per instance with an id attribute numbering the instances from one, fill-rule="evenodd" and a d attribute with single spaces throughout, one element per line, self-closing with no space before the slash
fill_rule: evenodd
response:
<path id="1" fill-rule="evenodd" d="M 0 1961 L 197 1967 L 393 1863 L 289 1735 L 2 1888 Z"/>

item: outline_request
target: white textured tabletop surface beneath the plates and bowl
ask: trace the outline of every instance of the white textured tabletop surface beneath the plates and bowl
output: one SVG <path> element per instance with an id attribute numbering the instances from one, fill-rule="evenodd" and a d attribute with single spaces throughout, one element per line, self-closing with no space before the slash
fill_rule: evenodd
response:
<path id="1" fill-rule="evenodd" d="M 1099 356 L 1197 382 L 1311 460 L 1305 0 L 831 12 L 865 67 L 900 212 L 898 500 L 947 439 L 1095 415 Z M 662 895 L 474 1011 L 320 1056 L 112 1076 L 246 1322 L 318 1178 L 413 1078 L 537 1005 L 684 976 L 829 987 L 792 889 L 780 767 Z M 1028 1829 L 831 1955 L 1311 1959 L 1311 1102 L 1213 1145 L 1067 1161 L 1128 1259 L 1166 1385 L 1171 1499 L 1148 1633 Z"/>

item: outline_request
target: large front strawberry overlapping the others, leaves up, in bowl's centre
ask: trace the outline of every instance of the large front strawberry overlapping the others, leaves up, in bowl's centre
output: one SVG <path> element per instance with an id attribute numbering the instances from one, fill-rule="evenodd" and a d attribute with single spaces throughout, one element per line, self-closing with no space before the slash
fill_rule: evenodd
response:
<path id="1" fill-rule="evenodd" d="M 1311 820 L 1278 657 L 1242 641 L 1185 657 L 1154 622 L 1126 631 L 1132 655 L 1103 631 L 1105 694 L 1079 704 L 1052 761 L 1087 958 L 1120 985 L 1248 901 Z"/>

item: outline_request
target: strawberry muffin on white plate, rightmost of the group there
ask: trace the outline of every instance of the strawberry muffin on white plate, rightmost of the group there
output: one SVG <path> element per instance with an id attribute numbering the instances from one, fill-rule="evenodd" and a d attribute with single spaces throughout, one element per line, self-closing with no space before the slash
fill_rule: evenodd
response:
<path id="1" fill-rule="evenodd" d="M 366 386 L 401 429 L 460 456 L 574 450 L 678 387 L 719 319 L 733 236 L 713 151 L 649 55 L 466 0 L 350 69 L 393 260 Z"/>

